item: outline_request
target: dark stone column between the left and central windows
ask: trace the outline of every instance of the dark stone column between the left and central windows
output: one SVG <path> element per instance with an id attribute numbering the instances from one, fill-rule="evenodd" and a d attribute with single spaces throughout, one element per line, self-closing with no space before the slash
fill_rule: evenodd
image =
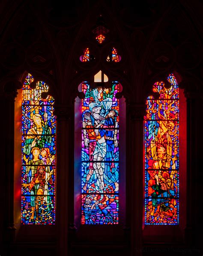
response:
<path id="1" fill-rule="evenodd" d="M 74 123 L 74 108 L 70 105 L 55 105 L 57 116 L 57 255 L 68 255 L 68 228 L 70 221 L 70 188 L 69 181 L 72 172 L 72 123 Z M 73 140 L 74 142 L 74 140 Z M 74 180 L 73 180 L 74 181 Z M 73 182 L 72 181 L 72 182 Z M 72 209 L 73 210 L 73 209 Z"/>

